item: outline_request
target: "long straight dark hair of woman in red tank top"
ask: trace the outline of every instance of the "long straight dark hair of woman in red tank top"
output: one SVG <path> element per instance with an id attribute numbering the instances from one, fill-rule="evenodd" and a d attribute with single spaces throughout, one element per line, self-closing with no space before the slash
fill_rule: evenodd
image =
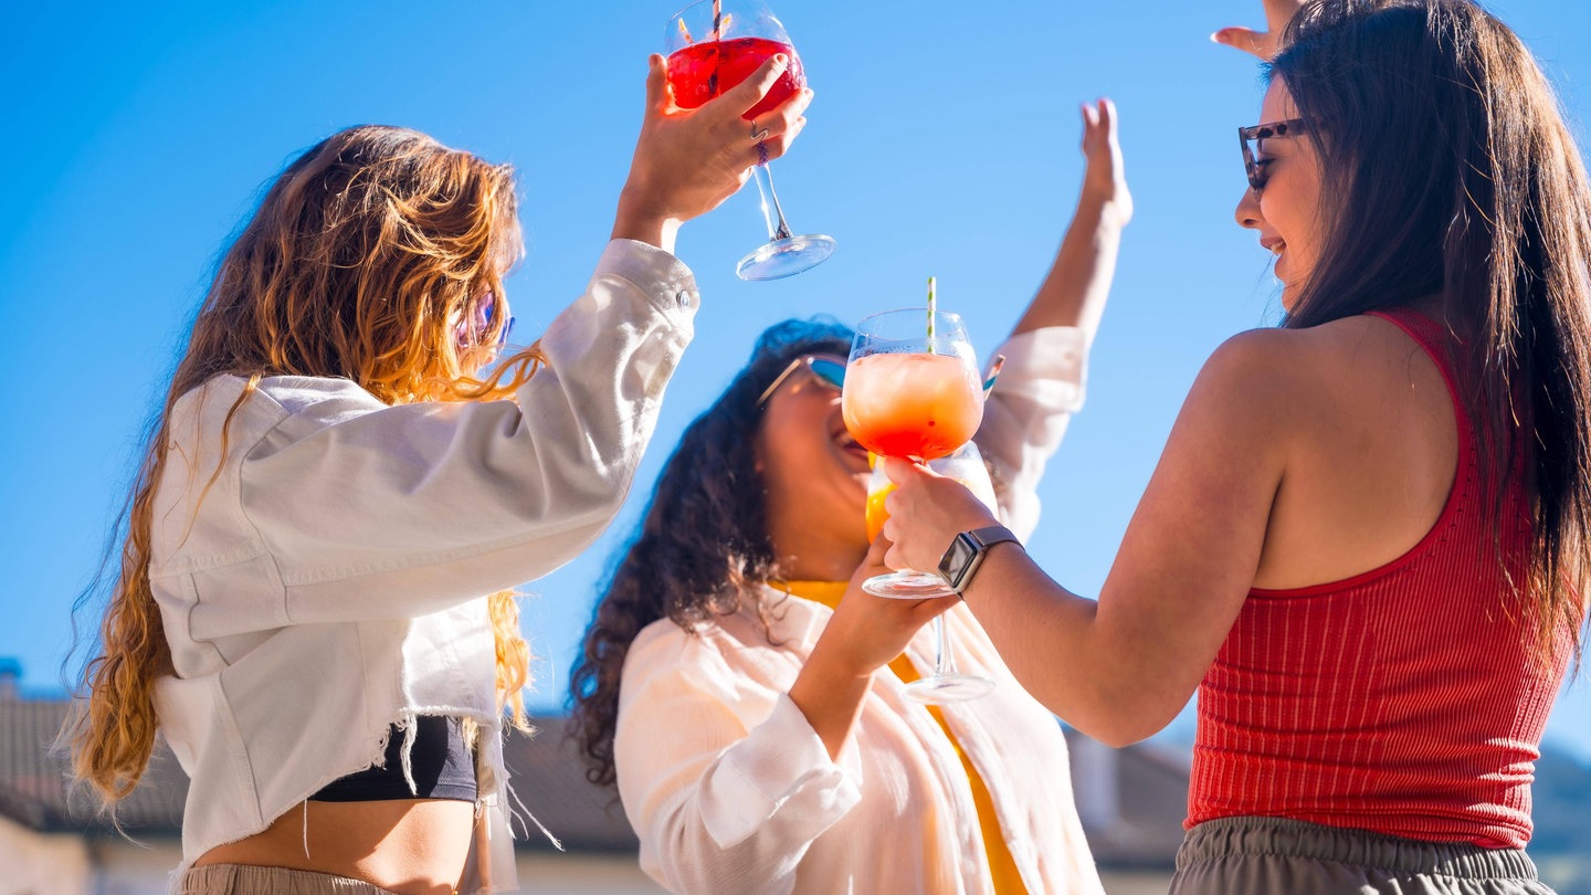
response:
<path id="1" fill-rule="evenodd" d="M 1314 0 L 1282 46 L 1271 73 L 1319 150 L 1322 194 L 1336 197 L 1286 325 L 1441 296 L 1478 373 L 1468 405 L 1483 470 L 1523 468 L 1534 497 L 1516 592 L 1543 653 L 1567 631 L 1578 656 L 1591 596 L 1591 193 L 1553 91 L 1519 38 L 1468 0 Z"/>

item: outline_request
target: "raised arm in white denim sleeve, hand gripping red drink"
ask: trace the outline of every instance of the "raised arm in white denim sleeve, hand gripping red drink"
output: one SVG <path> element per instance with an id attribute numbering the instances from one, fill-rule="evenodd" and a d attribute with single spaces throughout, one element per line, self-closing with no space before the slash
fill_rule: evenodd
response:
<path id="1" fill-rule="evenodd" d="M 741 113 L 781 72 L 768 61 L 718 99 L 679 110 L 662 57 L 651 59 L 614 239 L 585 293 L 539 339 L 546 365 L 514 401 L 387 406 L 347 381 L 270 377 L 231 419 L 242 379 L 185 397 L 172 433 L 191 448 L 161 490 L 180 511 L 158 513 L 154 532 L 165 538 L 158 554 L 173 559 L 153 573 L 220 567 L 200 597 L 231 632 L 412 618 L 573 559 L 622 505 L 694 334 L 698 293 L 670 252 L 675 234 L 749 177 L 760 154 Z M 800 132 L 808 100 L 797 94 L 759 118 L 770 154 Z M 220 487 L 235 497 L 205 500 L 216 465 L 197 455 L 205 444 L 234 452 L 239 471 Z M 186 557 L 200 508 L 258 535 L 228 562 Z M 269 581 L 277 599 L 266 605 L 226 575 Z"/>

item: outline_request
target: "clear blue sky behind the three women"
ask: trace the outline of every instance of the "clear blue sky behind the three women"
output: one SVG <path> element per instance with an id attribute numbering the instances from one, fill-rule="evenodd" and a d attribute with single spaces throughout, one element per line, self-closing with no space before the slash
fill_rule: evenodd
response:
<path id="1" fill-rule="evenodd" d="M 97 565 L 143 420 L 261 185 L 358 123 L 515 164 L 530 253 L 509 290 L 519 334 L 533 336 L 608 237 L 644 57 L 675 2 L 13 5 L 0 30 L 0 656 L 24 662 L 25 686 L 59 688 L 68 607 Z M 1491 6 L 1535 49 L 1585 142 L 1591 5 Z M 934 274 L 980 350 L 999 342 L 1071 217 L 1080 102 L 1118 104 L 1138 215 L 1088 408 L 1042 489 L 1031 549 L 1056 578 L 1098 591 L 1200 365 L 1278 317 L 1268 253 L 1231 218 L 1244 188 L 1233 129 L 1258 118 L 1258 70 L 1208 40 L 1258 24 L 1257 0 L 784 0 L 780 11 L 816 100 L 775 174 L 797 231 L 826 231 L 840 250 L 789 280 L 737 280 L 735 260 L 760 236 L 751 190 L 686 228 L 679 255 L 705 301 L 641 487 L 587 556 L 527 588 L 538 709 L 562 705 L 598 580 L 659 462 L 764 326 L 818 312 L 854 323 L 916 303 Z M 1066 656 L 1056 662 L 1064 670 Z M 1184 718 L 1166 736 L 1188 729 Z M 1566 693 L 1548 737 L 1591 760 L 1591 685 Z"/>

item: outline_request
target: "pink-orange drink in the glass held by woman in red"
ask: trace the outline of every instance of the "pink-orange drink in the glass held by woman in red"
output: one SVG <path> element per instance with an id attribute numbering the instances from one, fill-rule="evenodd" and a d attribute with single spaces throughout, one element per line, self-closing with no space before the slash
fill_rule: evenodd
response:
<path id="1" fill-rule="evenodd" d="M 966 444 L 983 419 L 983 389 L 964 358 L 872 354 L 845 371 L 845 428 L 873 454 L 932 460 Z"/>

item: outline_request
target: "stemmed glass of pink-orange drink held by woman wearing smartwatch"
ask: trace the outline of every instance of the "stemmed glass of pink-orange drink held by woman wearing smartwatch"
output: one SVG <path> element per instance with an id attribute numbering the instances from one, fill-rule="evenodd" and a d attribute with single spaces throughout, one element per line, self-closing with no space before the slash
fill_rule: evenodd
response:
<path id="1" fill-rule="evenodd" d="M 926 463 L 971 441 L 983 420 L 983 382 L 961 317 L 908 307 L 864 319 L 842 409 L 851 435 L 883 457 Z M 862 588 L 915 600 L 951 592 L 937 572 L 913 570 L 875 575 Z"/>

